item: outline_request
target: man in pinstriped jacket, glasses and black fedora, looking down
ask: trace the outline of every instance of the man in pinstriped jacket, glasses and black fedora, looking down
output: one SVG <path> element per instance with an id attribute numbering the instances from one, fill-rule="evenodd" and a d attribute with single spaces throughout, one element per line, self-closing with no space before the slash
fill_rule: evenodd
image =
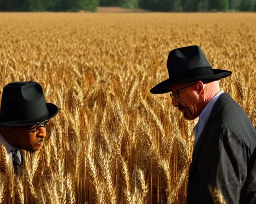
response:
<path id="1" fill-rule="evenodd" d="M 214 204 L 212 190 L 227 204 L 256 203 L 256 129 L 242 107 L 220 90 L 232 73 L 212 69 L 199 46 L 170 51 L 169 78 L 150 90 L 171 92 L 172 104 L 194 127 L 195 143 L 188 179 L 189 204 Z"/>

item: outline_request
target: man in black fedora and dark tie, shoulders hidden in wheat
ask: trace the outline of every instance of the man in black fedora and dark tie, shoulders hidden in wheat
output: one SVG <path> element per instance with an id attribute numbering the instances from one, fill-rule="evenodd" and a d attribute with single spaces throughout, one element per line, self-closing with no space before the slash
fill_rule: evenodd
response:
<path id="1" fill-rule="evenodd" d="M 20 149 L 38 151 L 46 136 L 48 120 L 58 107 L 46 103 L 38 82 L 12 82 L 4 87 L 0 109 L 0 143 L 4 144 L 17 173 L 22 168 Z"/>

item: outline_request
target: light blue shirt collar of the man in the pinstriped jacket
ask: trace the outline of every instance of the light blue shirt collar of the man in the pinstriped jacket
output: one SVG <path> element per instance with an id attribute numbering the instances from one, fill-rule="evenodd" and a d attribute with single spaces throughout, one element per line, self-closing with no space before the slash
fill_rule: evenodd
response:
<path id="1" fill-rule="evenodd" d="M 210 113 L 212 112 L 212 108 L 215 104 L 215 102 L 218 100 L 218 98 L 220 97 L 221 94 L 224 93 L 224 90 L 221 90 L 220 92 L 218 92 L 218 94 L 216 94 L 209 102 L 208 104 L 205 106 L 204 110 L 202 111 L 202 113 L 199 116 L 199 120 L 196 124 L 196 126 L 193 128 L 193 132 L 194 135 L 196 137 L 195 139 L 195 143 L 194 143 L 194 148 L 196 147 L 196 143 L 200 137 L 200 134 L 202 133 L 204 126 L 210 116 Z"/>

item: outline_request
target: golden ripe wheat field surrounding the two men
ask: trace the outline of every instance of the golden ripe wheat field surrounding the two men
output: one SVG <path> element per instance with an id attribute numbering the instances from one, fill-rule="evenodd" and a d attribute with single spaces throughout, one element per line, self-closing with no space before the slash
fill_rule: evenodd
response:
<path id="1" fill-rule="evenodd" d="M 14 175 L 0 145 L 0 203 L 184 204 L 196 121 L 168 94 L 168 53 L 199 45 L 256 126 L 256 14 L 0 13 L 0 95 L 34 80 L 60 110 Z M 212 190 L 216 204 L 225 203 Z"/>

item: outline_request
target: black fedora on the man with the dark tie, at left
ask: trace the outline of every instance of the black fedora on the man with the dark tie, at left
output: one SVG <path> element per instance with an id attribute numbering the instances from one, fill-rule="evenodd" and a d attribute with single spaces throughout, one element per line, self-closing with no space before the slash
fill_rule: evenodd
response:
<path id="1" fill-rule="evenodd" d="M 4 86 L 0 126 L 30 126 L 54 117 L 58 106 L 46 103 L 38 82 L 12 82 Z"/>

